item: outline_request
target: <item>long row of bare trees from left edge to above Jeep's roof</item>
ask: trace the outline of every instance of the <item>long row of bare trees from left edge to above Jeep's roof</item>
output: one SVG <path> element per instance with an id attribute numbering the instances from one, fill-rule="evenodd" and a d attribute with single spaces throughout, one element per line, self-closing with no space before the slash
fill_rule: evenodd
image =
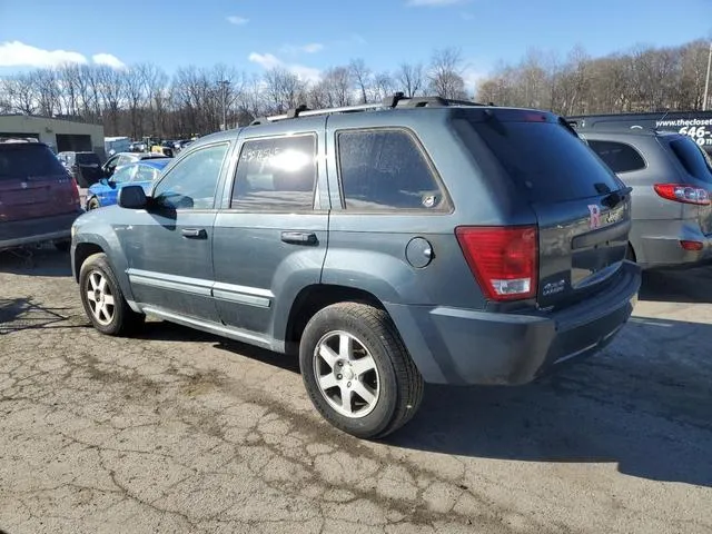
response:
<path id="1" fill-rule="evenodd" d="M 457 49 L 436 50 L 426 63 L 374 71 L 363 59 L 332 67 L 307 81 L 284 67 L 264 75 L 237 68 L 188 66 L 168 76 L 152 63 L 113 69 L 63 65 L 0 79 L 0 113 L 19 112 L 103 123 L 107 136 L 185 138 L 245 125 L 257 117 L 309 108 L 374 102 L 402 90 L 466 98 Z M 225 117 L 224 117 L 225 115 Z M 225 120 L 224 120 L 225 119 Z"/>

